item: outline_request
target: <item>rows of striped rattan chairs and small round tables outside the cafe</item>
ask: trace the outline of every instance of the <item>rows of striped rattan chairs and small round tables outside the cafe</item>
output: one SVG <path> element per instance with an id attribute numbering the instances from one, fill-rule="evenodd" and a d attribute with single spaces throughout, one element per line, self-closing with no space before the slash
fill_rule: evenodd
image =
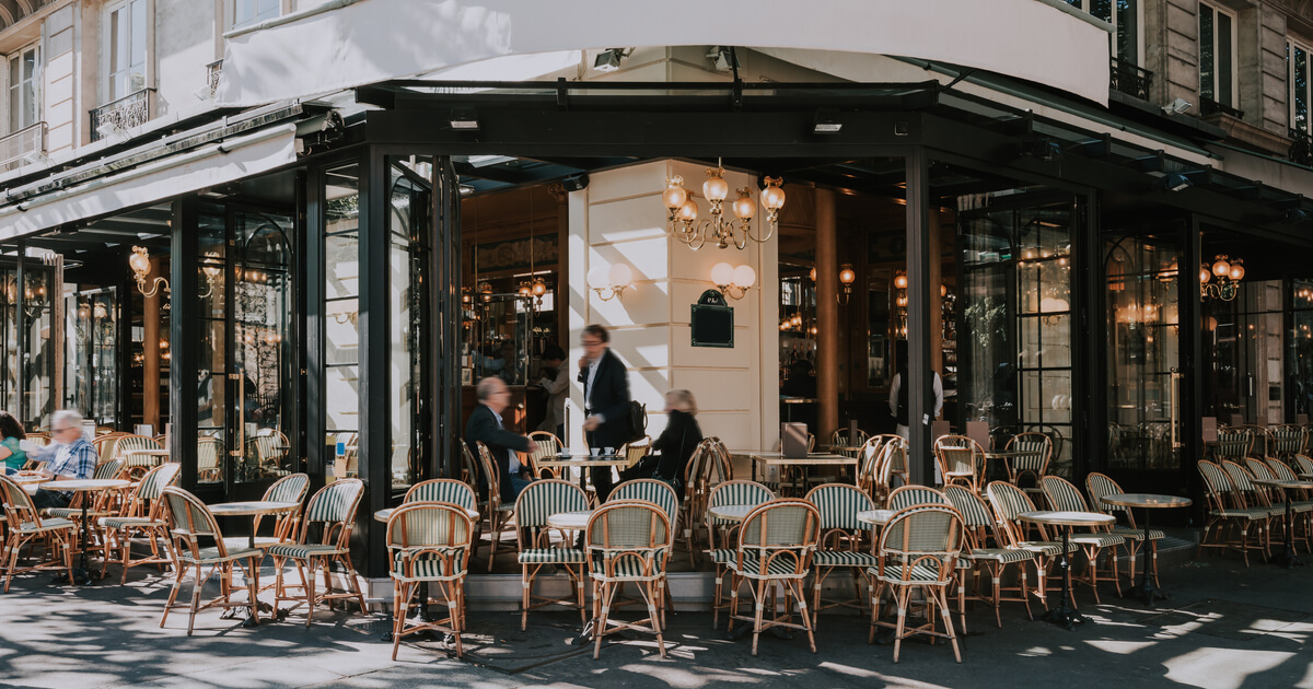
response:
<path id="1" fill-rule="evenodd" d="M 68 508 L 33 507 L 29 496 L 50 484 L 43 478 L 0 478 L 7 591 L 14 577 L 39 570 L 91 583 L 97 579 L 91 559 L 98 558 L 98 579 L 119 567 L 119 585 L 135 567 L 171 570 L 159 626 L 186 608 L 188 635 L 211 608 L 240 614 L 246 626 L 284 622 L 299 610 L 305 626 L 314 627 L 322 605 L 370 616 L 351 558 L 362 480 L 337 479 L 309 495 L 309 476 L 289 474 L 261 500 L 206 504 L 177 487 L 179 465 L 156 465 L 160 455 L 142 455 L 135 446 L 144 441 L 125 438 L 131 436 L 97 438 L 109 458 L 93 479 L 60 482 L 77 491 Z M 970 438 L 941 437 L 935 487 L 909 482 L 901 437 L 861 440 L 851 455 L 811 453 L 792 465 L 789 480 L 767 484 L 735 478 L 737 463 L 751 462 L 750 476 L 772 478 L 784 474 L 779 467 L 788 458 L 773 450 L 729 450 L 708 437 L 688 462 L 681 491 L 635 479 L 620 483 L 600 504 L 588 470 L 629 466 L 647 451 L 646 444 L 614 455 L 567 457 L 554 437 L 537 440 L 524 453 L 525 466 L 561 478 L 534 480 L 513 504 L 503 504 L 491 453 L 477 442 L 477 459 L 466 453 L 461 478 L 418 483 L 399 507 L 373 513 L 386 529 L 394 585 L 387 601 L 391 655 L 403 642 L 436 633 L 460 658 L 462 635 L 470 633 L 469 577 L 496 572 L 499 550 L 515 558 L 521 579 L 520 629 L 538 623 L 537 610 L 574 609 L 579 639 L 592 643 L 595 658 L 618 633 L 651 639 L 666 656 L 667 621 L 675 612 L 668 576 L 674 562 L 685 560 L 693 571 L 713 572 L 712 626 L 727 639 L 751 634 L 752 655 L 763 633 L 790 630 L 805 634 L 804 646 L 817 652 L 834 625 L 827 618 L 847 609 L 868 619 L 868 642 L 893 644 L 894 661 L 906 655 L 907 639 L 926 637 L 947 642 L 961 663 L 972 659 L 962 642 L 969 625 L 978 629 L 970 622 L 976 602 L 997 629 L 1004 627 L 1004 604 L 1020 604 L 1016 612 L 1028 619 L 1043 617 L 1073 630 L 1087 621 L 1085 605 L 1108 600 L 1100 588 L 1150 605 L 1166 598 L 1157 566 L 1165 534 L 1150 529 L 1149 513 L 1188 507 L 1187 497 L 1127 493 L 1103 474 L 1091 474 L 1082 491 L 1045 474 L 1050 450 L 1043 436 L 1011 438 L 997 453 Z M 1254 449 L 1246 442 L 1246 451 Z M 1302 445 L 1283 449 L 1289 450 L 1284 459 L 1199 462 L 1209 514 L 1200 553 L 1234 550 L 1247 567 L 1250 555 L 1287 564 L 1297 559 L 1299 546 L 1309 551 L 1309 459 Z M 817 465 L 809 461 L 851 471 L 815 480 L 806 469 Z M 143 465 L 137 479 L 131 471 Z M 252 520 L 249 535 L 226 538 L 221 518 Z M 513 542 L 506 532 L 515 534 Z M 479 559 L 484 546 L 487 559 Z M 261 570 L 270 564 L 272 579 L 265 574 L 261 585 Z M 214 576 L 219 584 L 210 597 L 205 589 Z M 569 595 L 542 589 L 558 579 L 567 581 Z"/>

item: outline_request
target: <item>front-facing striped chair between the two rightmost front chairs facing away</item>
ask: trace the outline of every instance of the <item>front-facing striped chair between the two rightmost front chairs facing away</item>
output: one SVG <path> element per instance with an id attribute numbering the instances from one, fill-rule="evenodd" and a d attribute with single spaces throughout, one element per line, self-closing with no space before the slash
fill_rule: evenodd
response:
<path id="1" fill-rule="evenodd" d="M 846 483 L 817 486 L 807 492 L 806 500 L 815 505 L 821 514 L 821 539 L 811 556 L 811 564 L 815 567 L 815 576 L 811 579 L 811 627 L 815 629 L 822 609 L 839 606 L 863 609 L 860 585 L 863 574 L 868 567 L 878 564 L 878 560 L 861 547 L 874 526 L 857 521 L 857 513 L 876 509 L 876 504 L 869 495 Z M 852 574 L 852 598 L 822 601 L 821 588 L 826 577 L 840 568 Z"/>

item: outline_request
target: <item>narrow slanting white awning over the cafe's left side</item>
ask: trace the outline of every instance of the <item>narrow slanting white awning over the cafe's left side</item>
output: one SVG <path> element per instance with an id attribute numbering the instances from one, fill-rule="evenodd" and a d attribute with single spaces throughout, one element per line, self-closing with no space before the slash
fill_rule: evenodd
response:
<path id="1" fill-rule="evenodd" d="M 0 240 L 156 203 L 297 160 L 297 126 L 267 127 L 0 209 Z"/>

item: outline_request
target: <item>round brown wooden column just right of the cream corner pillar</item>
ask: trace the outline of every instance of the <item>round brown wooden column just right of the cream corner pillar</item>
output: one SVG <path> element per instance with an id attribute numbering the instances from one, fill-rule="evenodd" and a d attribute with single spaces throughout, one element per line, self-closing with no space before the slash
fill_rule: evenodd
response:
<path id="1" fill-rule="evenodd" d="M 817 428 L 827 442 L 839 428 L 839 241 L 834 192 L 817 189 Z"/>

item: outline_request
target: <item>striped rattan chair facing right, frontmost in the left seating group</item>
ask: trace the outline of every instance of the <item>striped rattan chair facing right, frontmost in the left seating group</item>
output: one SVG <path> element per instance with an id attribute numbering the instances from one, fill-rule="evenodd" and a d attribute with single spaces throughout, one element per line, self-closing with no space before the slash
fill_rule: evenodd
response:
<path id="1" fill-rule="evenodd" d="M 198 497 L 169 486 L 163 492 L 164 521 L 168 524 L 168 533 L 173 539 L 173 556 L 176 558 L 177 579 L 173 580 L 173 589 L 169 591 L 168 602 L 164 604 L 164 614 L 160 617 L 160 627 L 168 621 L 168 613 L 177 601 L 177 592 L 183 588 L 183 579 L 189 570 L 194 571 L 192 580 L 192 605 L 186 619 L 186 635 L 192 635 L 196 626 L 196 613 L 202 608 L 247 608 L 251 619 L 260 623 L 260 605 L 256 595 L 260 591 L 260 560 L 264 553 L 259 549 L 244 547 L 228 550 L 223 542 L 223 532 L 219 530 L 214 514 Z M 214 545 L 209 542 L 213 539 Z M 202 541 L 206 542 L 202 546 Z M 246 600 L 234 601 L 234 567 L 240 567 L 246 579 Z M 201 592 L 205 583 L 214 574 L 219 574 L 219 596 L 206 604 L 201 604 Z"/>

